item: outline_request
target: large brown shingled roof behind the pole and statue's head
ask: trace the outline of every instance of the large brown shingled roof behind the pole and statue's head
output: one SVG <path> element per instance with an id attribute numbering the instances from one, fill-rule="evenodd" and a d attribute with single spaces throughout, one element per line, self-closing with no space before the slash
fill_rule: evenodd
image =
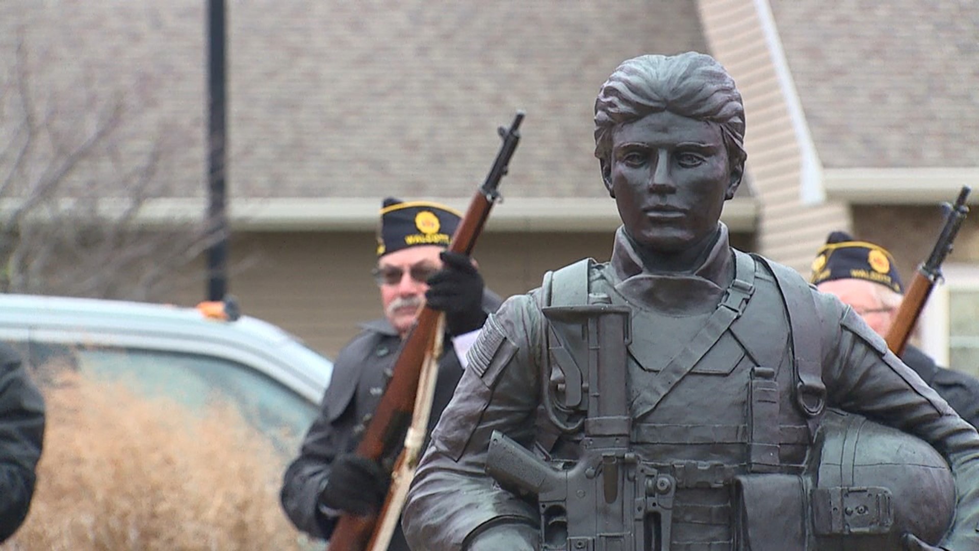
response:
<path id="1" fill-rule="evenodd" d="M 0 40 L 23 35 L 46 98 L 123 91 L 122 150 L 178 136 L 171 193 L 201 196 L 205 4 L 10 0 Z M 228 35 L 229 182 L 260 198 L 468 197 L 518 108 L 508 195 L 607 197 L 598 86 L 634 55 L 706 50 L 695 3 L 673 0 L 229 2 Z"/>

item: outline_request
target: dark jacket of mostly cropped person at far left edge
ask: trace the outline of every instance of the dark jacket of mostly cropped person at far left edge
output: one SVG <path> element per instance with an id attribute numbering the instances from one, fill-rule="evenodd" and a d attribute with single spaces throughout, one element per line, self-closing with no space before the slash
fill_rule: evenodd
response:
<path id="1" fill-rule="evenodd" d="M 0 541 L 27 516 L 44 439 L 44 401 L 13 349 L 0 343 Z"/>

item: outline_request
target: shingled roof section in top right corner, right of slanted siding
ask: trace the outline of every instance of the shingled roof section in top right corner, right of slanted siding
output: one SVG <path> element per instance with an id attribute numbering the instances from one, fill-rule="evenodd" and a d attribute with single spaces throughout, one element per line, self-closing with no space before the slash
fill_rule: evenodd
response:
<path id="1" fill-rule="evenodd" d="M 823 167 L 979 165 L 979 2 L 769 3 Z"/>

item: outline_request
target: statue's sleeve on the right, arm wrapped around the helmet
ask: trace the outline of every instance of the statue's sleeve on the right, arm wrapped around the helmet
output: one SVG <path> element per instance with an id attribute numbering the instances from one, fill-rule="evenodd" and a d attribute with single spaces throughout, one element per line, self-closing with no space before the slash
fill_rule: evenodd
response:
<path id="1" fill-rule="evenodd" d="M 913 434 L 941 453 L 956 484 L 956 517 L 941 546 L 979 549 L 979 433 L 887 349 L 851 308 L 817 295 L 827 403 Z"/>

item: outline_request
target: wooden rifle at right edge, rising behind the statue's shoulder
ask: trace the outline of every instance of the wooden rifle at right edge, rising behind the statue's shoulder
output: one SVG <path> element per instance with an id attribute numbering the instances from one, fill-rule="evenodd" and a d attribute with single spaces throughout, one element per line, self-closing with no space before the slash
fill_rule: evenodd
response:
<path id="1" fill-rule="evenodd" d="M 938 241 L 935 242 L 935 247 L 928 255 L 928 259 L 914 273 L 908 292 L 905 293 L 905 298 L 901 302 L 901 308 L 898 309 L 897 318 L 887 331 L 887 347 L 898 356 L 901 356 L 905 351 L 911 330 L 917 323 L 918 316 L 921 315 L 924 303 L 928 301 L 931 289 L 934 288 L 935 283 L 942 279 L 942 263 L 945 262 L 945 257 L 952 252 L 952 242 L 956 239 L 958 228 L 961 227 L 965 215 L 969 212 L 969 208 L 965 206 L 965 199 L 970 191 L 969 186 L 963 185 L 958 192 L 956 203 L 954 205 L 944 204 L 945 225 L 938 235 Z"/>

